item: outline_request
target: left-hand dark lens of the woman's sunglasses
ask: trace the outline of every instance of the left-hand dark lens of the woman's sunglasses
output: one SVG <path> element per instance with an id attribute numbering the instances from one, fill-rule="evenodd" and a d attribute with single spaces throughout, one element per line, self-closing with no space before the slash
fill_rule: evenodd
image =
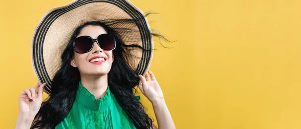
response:
<path id="1" fill-rule="evenodd" d="M 75 50 L 78 53 L 88 52 L 93 45 L 93 40 L 88 37 L 78 37 L 75 39 Z"/>

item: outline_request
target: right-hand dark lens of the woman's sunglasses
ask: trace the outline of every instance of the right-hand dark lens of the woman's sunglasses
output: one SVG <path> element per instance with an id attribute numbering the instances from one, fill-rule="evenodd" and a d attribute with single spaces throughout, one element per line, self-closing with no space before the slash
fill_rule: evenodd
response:
<path id="1" fill-rule="evenodd" d="M 101 49 L 113 50 L 115 48 L 115 40 L 113 36 L 102 34 L 98 36 L 98 43 Z"/>

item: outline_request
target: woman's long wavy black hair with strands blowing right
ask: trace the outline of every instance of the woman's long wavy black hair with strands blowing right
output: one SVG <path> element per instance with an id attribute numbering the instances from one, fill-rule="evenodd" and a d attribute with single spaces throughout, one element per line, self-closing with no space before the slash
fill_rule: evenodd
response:
<path id="1" fill-rule="evenodd" d="M 144 17 L 149 14 L 146 14 Z M 124 44 L 116 30 L 121 29 L 122 31 L 132 31 L 136 33 L 139 33 L 139 31 L 111 27 L 112 25 L 122 23 L 135 24 L 137 20 L 141 19 L 142 18 L 93 21 L 78 27 L 72 34 L 67 46 L 64 47 L 65 49 L 61 56 L 62 66 L 52 80 L 52 95 L 47 101 L 42 103 L 39 112 L 35 116 L 35 119 L 37 120 L 32 124 L 31 128 L 55 128 L 55 126 L 58 125 L 71 110 L 80 81 L 79 70 L 70 65 L 70 61 L 74 56 L 72 43 L 80 31 L 89 25 L 103 27 L 108 34 L 116 39 L 117 45 L 115 50 L 113 50 L 114 62 L 108 73 L 108 85 L 110 86 L 111 92 L 115 95 L 117 102 L 129 118 L 132 119 L 136 128 L 152 128 L 153 120 L 146 114 L 142 104 L 134 96 L 133 90 L 136 90 L 134 87 L 139 80 L 138 75 L 131 70 L 126 63 L 124 54 L 127 54 L 128 50 L 131 48 L 139 48 L 142 51 L 153 50 L 145 50 L 136 44 Z M 153 33 L 152 35 L 165 39 L 161 34 Z"/>

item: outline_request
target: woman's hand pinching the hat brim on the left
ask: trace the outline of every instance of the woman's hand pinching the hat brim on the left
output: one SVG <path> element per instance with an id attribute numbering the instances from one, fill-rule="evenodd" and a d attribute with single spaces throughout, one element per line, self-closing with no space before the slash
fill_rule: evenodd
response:
<path id="1" fill-rule="evenodd" d="M 38 83 L 36 87 L 23 90 L 19 97 L 19 115 L 35 117 L 42 104 L 43 87 L 45 84 Z"/>

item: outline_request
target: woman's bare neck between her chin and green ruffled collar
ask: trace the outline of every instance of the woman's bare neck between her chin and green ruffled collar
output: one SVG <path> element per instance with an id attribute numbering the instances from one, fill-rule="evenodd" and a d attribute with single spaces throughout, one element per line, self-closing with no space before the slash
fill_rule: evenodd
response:
<path id="1" fill-rule="evenodd" d="M 95 99 L 99 99 L 106 95 L 108 86 L 107 74 L 98 77 L 81 75 L 80 81 L 83 87 L 95 96 Z"/>

